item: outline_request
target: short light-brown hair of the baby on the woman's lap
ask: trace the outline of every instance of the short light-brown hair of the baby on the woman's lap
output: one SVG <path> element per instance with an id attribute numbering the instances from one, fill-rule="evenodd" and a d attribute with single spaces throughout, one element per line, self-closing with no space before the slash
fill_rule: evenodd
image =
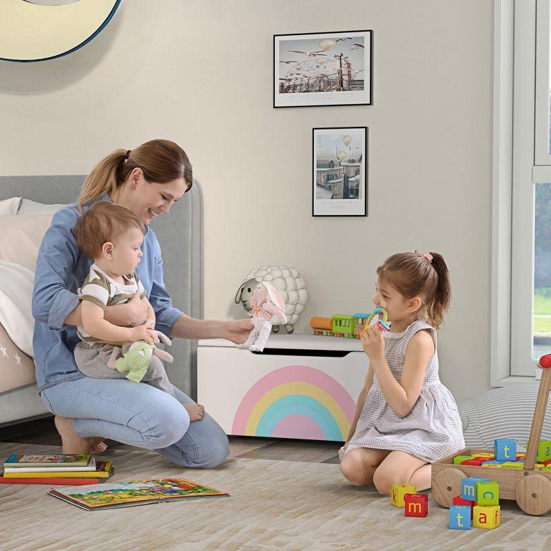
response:
<path id="1" fill-rule="evenodd" d="M 132 227 L 145 234 L 143 224 L 127 208 L 108 201 L 97 201 L 76 220 L 72 232 L 81 253 L 93 260 L 101 255 L 104 243 L 116 241 Z"/>

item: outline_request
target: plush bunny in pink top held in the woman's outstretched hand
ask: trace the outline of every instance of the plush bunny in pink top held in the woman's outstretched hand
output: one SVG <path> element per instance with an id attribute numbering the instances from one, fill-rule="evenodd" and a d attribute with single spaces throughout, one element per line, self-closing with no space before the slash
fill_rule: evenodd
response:
<path id="1" fill-rule="evenodd" d="M 280 293 L 267 281 L 258 283 L 251 298 L 253 330 L 249 333 L 247 342 L 238 344 L 239 349 L 249 349 L 251 352 L 262 352 L 272 324 L 285 324 L 285 303 Z"/>

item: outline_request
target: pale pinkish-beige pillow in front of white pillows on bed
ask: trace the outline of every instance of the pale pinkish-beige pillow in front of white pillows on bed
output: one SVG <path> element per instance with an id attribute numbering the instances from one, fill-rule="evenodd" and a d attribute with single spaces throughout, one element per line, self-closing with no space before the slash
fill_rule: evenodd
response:
<path id="1" fill-rule="evenodd" d="M 50 214 L 0 216 L 0 260 L 36 271 L 42 238 L 51 222 Z"/>

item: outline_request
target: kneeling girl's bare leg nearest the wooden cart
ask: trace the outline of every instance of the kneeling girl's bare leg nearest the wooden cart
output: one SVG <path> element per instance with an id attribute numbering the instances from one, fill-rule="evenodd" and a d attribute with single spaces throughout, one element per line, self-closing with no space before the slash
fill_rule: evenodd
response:
<path id="1" fill-rule="evenodd" d="M 399 484 L 410 484 L 417 490 L 426 490 L 430 488 L 430 464 L 419 457 L 395 450 L 375 470 L 373 484 L 383 495 L 391 495 L 392 487 Z"/>

